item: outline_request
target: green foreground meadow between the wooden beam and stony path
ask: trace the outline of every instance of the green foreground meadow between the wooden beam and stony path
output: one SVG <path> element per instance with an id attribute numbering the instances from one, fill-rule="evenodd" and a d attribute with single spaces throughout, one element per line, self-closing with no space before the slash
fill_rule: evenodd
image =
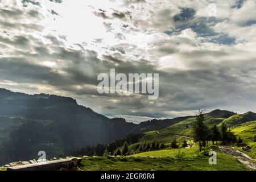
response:
<path id="1" fill-rule="evenodd" d="M 184 159 L 177 159 L 177 152 Z M 126 157 L 96 157 L 82 160 L 83 170 L 248 170 L 233 156 L 217 153 L 217 165 L 208 163 L 209 157 L 198 155 L 198 148 L 143 152 Z"/>

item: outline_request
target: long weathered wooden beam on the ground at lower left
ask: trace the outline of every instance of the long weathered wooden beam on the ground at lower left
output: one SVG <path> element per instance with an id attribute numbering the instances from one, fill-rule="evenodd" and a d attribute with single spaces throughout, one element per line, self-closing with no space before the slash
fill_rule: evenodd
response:
<path id="1" fill-rule="evenodd" d="M 26 164 L 20 166 L 8 167 L 7 171 L 49 171 L 57 170 L 61 168 L 64 164 L 72 162 L 72 159 L 77 159 L 77 162 L 81 162 L 81 158 L 68 158 L 68 159 L 59 159 L 59 160 L 50 160 L 47 162 L 39 162 L 35 164 Z"/>

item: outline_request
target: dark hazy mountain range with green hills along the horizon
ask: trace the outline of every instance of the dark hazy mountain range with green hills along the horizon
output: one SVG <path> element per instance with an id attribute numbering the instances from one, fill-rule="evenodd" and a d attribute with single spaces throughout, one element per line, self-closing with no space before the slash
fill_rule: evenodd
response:
<path id="1" fill-rule="evenodd" d="M 148 137 L 148 131 L 189 135 L 195 118 L 152 119 L 134 124 L 123 118 L 105 117 L 70 97 L 0 89 L 0 164 L 35 159 L 42 150 L 47 158 L 64 155 L 82 146 L 110 143 L 129 134 Z M 208 125 L 225 122 L 232 127 L 256 120 L 256 114 L 213 110 L 205 118 Z M 154 139 L 155 134 L 149 138 Z"/>

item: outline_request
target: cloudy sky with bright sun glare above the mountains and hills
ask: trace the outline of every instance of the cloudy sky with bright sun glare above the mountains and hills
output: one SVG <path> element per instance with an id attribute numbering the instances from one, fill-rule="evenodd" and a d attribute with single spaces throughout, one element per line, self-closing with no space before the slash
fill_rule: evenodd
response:
<path id="1" fill-rule="evenodd" d="M 159 73 L 159 98 L 98 93 L 110 69 Z M 138 123 L 256 111 L 255 78 L 255 0 L 0 0 L 0 88 Z"/>

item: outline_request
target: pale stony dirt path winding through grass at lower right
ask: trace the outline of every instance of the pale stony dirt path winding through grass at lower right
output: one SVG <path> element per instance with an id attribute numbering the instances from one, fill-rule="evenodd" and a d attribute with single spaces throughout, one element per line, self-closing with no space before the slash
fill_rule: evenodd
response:
<path id="1" fill-rule="evenodd" d="M 226 154 L 233 155 L 239 162 L 245 164 L 247 167 L 256 169 L 256 160 L 251 159 L 247 154 L 236 150 L 234 147 L 218 146 L 218 148 L 220 151 L 225 152 Z"/>

